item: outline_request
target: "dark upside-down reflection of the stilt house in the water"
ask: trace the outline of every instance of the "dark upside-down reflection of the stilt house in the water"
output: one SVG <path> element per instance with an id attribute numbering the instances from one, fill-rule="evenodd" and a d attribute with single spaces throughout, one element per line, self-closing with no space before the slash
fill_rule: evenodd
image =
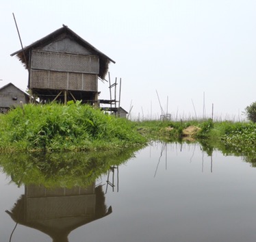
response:
<path id="1" fill-rule="evenodd" d="M 64 242 L 72 230 L 109 215 L 112 207 L 107 209 L 102 186 L 95 184 L 86 189 L 28 185 L 12 211 L 6 212 L 18 224 L 40 230 L 55 242 Z"/>

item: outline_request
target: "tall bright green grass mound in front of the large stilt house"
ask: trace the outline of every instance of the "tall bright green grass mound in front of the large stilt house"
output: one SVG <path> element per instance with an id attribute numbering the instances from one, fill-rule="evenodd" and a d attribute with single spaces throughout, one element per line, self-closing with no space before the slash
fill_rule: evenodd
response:
<path id="1" fill-rule="evenodd" d="M 145 143 L 133 122 L 79 102 L 23 105 L 0 116 L 1 152 L 108 150 Z"/>

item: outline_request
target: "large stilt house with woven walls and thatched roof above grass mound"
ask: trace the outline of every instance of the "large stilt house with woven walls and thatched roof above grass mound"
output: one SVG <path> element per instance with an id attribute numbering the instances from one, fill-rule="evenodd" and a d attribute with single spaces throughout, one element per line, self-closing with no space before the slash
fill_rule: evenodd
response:
<path id="1" fill-rule="evenodd" d="M 66 25 L 12 53 L 29 71 L 28 88 L 40 103 L 81 100 L 96 105 L 98 77 L 105 78 L 110 57 Z"/>

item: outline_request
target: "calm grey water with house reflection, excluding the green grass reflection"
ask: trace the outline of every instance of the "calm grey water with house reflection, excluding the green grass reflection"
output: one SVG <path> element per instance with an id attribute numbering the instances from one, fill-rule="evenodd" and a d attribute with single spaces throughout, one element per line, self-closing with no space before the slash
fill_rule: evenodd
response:
<path id="1" fill-rule="evenodd" d="M 0 241 L 256 240 L 256 168 L 196 144 L 155 143 L 87 189 L 10 181 L 1 174 Z"/>

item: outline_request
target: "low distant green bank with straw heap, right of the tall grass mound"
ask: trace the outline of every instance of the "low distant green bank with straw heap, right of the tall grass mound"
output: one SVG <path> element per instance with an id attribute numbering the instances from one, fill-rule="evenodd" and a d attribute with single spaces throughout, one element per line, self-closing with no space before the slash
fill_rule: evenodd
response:
<path id="1" fill-rule="evenodd" d="M 256 152 L 256 124 L 253 122 L 212 122 L 190 120 L 185 122 L 137 122 L 138 130 L 148 139 L 164 142 L 199 142 L 205 149 L 218 148 L 222 152 Z"/>

